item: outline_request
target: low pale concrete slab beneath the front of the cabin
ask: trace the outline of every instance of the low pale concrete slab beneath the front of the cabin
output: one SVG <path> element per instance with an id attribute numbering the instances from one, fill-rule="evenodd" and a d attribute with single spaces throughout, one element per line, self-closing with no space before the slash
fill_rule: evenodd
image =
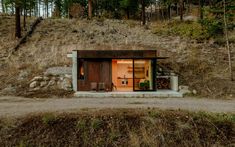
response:
<path id="1" fill-rule="evenodd" d="M 183 94 L 173 90 L 158 90 L 154 92 L 75 92 L 78 98 L 180 98 Z"/>

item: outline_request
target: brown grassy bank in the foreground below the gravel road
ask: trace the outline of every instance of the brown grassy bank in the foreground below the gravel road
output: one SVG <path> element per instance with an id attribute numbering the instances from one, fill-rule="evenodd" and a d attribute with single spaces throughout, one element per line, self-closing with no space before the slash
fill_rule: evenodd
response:
<path id="1" fill-rule="evenodd" d="M 1 146 L 233 146 L 234 114 L 121 109 L 1 119 Z"/>

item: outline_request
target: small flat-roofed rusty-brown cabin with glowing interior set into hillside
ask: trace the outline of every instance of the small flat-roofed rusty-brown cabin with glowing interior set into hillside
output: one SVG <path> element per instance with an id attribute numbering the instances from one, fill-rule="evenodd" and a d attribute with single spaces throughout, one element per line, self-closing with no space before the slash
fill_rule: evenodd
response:
<path id="1" fill-rule="evenodd" d="M 156 50 L 74 50 L 74 91 L 156 91 Z"/>

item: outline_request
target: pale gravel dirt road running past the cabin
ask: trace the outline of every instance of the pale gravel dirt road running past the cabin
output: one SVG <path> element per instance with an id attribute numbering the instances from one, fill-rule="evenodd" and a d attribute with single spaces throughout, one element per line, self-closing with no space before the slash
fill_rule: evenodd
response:
<path id="1" fill-rule="evenodd" d="M 68 98 L 29 99 L 0 97 L 0 117 L 18 117 L 40 112 L 75 112 L 94 108 L 160 108 L 235 113 L 235 99 L 198 98 Z"/>

